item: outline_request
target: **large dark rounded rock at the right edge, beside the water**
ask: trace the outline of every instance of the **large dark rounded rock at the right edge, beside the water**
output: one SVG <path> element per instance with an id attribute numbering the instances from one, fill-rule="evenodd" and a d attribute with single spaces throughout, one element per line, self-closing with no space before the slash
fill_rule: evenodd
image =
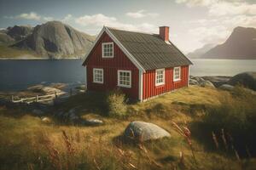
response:
<path id="1" fill-rule="evenodd" d="M 232 86 L 242 85 L 256 91 L 256 72 L 243 72 L 230 78 L 228 84 Z"/>

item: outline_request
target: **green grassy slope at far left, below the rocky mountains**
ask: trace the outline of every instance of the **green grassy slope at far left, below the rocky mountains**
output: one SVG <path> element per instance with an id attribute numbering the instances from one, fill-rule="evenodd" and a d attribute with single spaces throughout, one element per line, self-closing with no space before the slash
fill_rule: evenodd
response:
<path id="1" fill-rule="evenodd" d="M 0 58 L 37 58 L 38 54 L 26 50 L 26 49 L 20 49 L 20 48 L 11 48 L 7 44 L 0 44 Z"/>

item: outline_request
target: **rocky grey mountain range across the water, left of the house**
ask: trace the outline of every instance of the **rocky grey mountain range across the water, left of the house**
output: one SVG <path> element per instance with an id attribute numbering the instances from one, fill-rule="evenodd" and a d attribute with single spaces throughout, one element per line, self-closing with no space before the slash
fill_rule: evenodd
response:
<path id="1" fill-rule="evenodd" d="M 0 31 L 0 58 L 23 58 L 24 55 L 38 59 L 83 58 L 94 40 L 95 37 L 60 21 L 35 27 L 14 26 Z M 19 54 L 19 50 L 20 56 L 12 56 Z"/>

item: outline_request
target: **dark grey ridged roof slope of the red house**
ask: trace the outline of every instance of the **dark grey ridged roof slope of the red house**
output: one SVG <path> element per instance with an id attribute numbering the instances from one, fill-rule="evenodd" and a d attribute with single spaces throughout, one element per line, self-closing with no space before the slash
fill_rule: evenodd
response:
<path id="1" fill-rule="evenodd" d="M 109 28 L 114 37 L 133 55 L 145 70 L 192 65 L 191 61 L 159 35 Z"/>

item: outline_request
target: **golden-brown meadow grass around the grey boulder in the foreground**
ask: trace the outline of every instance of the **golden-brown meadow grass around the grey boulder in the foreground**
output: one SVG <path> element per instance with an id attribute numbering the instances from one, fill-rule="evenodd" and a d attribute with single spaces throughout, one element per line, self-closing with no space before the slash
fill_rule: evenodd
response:
<path id="1" fill-rule="evenodd" d="M 239 91 L 239 90 L 238 90 Z M 40 117 L 19 109 L 0 107 L 0 169 L 253 169 L 254 158 L 214 148 L 212 130 L 203 120 L 210 108 L 222 105 L 223 98 L 247 103 L 248 96 L 192 86 L 144 103 L 127 105 L 123 118 L 109 117 L 102 107 L 105 94 L 79 94 L 55 111 L 76 107 L 83 118 L 100 118 L 100 127 L 42 122 Z M 252 97 L 252 96 L 251 96 Z M 251 101 L 256 100 L 250 97 Z M 119 136 L 131 121 L 153 122 L 171 133 L 170 139 L 145 144 L 124 144 Z M 189 127 L 196 162 L 186 139 L 177 132 Z M 203 125 L 203 127 L 201 127 Z M 207 134 L 207 135 L 206 135 Z M 219 140 L 219 143 L 221 141 Z M 182 153 L 182 157 L 180 154 Z"/>

